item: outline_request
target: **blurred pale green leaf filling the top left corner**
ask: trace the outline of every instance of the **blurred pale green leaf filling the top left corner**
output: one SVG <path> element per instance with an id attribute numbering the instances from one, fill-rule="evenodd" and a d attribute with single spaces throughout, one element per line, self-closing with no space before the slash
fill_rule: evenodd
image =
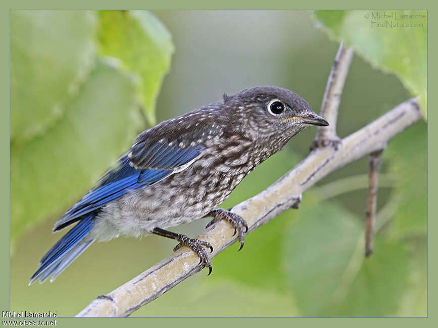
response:
<path id="1" fill-rule="evenodd" d="M 43 133 L 94 62 L 95 14 L 11 11 L 11 140 Z"/>

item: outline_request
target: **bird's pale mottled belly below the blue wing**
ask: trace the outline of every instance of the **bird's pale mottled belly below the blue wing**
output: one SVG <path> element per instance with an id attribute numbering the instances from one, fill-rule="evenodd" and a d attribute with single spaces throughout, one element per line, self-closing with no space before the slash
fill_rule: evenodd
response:
<path id="1" fill-rule="evenodd" d="M 102 226 L 115 227 L 121 235 L 135 237 L 155 227 L 188 223 L 220 205 L 246 174 L 189 168 L 110 203 L 99 221 Z"/>

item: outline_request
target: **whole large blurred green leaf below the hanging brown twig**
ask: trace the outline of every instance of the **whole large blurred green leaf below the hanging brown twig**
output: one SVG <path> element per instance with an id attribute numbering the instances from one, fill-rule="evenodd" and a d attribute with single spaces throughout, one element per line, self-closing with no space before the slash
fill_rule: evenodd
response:
<path id="1" fill-rule="evenodd" d="M 285 238 L 289 288 L 304 316 L 394 314 L 408 280 L 402 243 L 375 240 L 364 257 L 363 222 L 332 203 L 309 204 Z"/>

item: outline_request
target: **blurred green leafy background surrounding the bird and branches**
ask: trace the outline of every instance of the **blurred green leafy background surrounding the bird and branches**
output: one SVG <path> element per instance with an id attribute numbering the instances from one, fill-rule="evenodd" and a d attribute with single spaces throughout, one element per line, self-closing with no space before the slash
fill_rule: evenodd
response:
<path id="1" fill-rule="evenodd" d="M 157 236 L 95 243 L 54 283 L 27 286 L 64 233 L 52 235 L 54 222 L 156 122 L 256 85 L 294 90 L 318 112 L 338 38 L 360 54 L 344 88 L 340 137 L 424 95 L 425 26 L 404 31 L 414 45 L 407 51 L 401 31 L 372 30 L 364 13 L 13 11 L 11 310 L 74 316 L 171 254 L 175 243 Z M 315 132 L 294 137 L 223 207 L 296 165 Z M 132 316 L 425 316 L 426 123 L 383 154 L 374 253 L 364 258 L 367 172 L 368 158 L 333 172 L 299 210 L 251 233 L 240 252 L 233 245 L 216 256 L 210 276 L 190 277 Z M 207 221 L 173 230 L 196 236 Z"/>

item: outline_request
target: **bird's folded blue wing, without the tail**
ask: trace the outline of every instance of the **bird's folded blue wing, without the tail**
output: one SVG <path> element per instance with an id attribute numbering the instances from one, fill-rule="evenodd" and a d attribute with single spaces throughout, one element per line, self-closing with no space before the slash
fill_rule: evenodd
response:
<path id="1" fill-rule="evenodd" d="M 56 223 L 54 231 L 80 220 L 128 192 L 158 182 L 173 174 L 178 167 L 198 157 L 203 146 L 181 148 L 158 142 L 135 144 L 128 155 L 122 156 L 115 168 L 110 169 L 96 186 L 69 209 Z"/>

